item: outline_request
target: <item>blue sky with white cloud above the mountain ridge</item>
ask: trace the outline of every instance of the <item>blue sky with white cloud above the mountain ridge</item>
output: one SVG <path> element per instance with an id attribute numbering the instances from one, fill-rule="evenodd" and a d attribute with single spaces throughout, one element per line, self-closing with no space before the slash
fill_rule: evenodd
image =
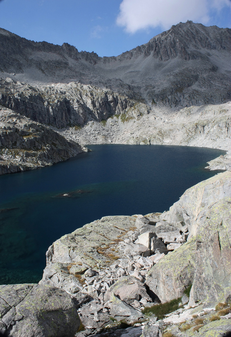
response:
<path id="1" fill-rule="evenodd" d="M 180 21 L 231 28 L 230 0 L 0 0 L 0 27 L 34 41 L 119 55 Z"/>

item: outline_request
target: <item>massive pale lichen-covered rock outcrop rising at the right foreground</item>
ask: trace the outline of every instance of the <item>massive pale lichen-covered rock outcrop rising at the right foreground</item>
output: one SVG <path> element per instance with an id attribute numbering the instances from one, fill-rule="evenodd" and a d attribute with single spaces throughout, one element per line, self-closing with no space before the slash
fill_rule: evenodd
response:
<path id="1" fill-rule="evenodd" d="M 191 305 L 205 301 L 213 306 L 230 296 L 230 182 L 230 172 L 207 179 L 161 215 L 186 223 L 192 237 L 150 271 L 146 283 L 161 301 L 182 296 L 190 284 Z"/>

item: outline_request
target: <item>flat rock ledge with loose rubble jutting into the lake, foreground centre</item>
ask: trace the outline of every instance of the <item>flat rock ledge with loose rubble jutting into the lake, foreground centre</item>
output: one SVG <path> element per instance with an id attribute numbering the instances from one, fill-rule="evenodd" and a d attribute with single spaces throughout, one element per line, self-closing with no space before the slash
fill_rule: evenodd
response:
<path id="1" fill-rule="evenodd" d="M 141 310 L 159 302 L 145 284 L 147 272 L 188 236 L 187 226 L 178 223 L 176 227 L 160 221 L 159 216 L 103 217 L 65 235 L 48 249 L 39 283 L 70 294 L 87 335 L 110 325 L 111 317 L 126 319 L 129 324 L 143 319 Z M 167 249 L 169 243 L 177 247 Z"/>

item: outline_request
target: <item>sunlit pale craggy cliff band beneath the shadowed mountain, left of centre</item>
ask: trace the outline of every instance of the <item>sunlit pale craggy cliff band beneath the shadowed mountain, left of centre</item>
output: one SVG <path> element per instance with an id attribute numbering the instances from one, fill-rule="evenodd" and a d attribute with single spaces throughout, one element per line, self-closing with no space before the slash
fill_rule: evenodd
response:
<path id="1" fill-rule="evenodd" d="M 102 121 L 115 114 L 138 118 L 149 113 L 144 103 L 93 85 L 52 84 L 36 86 L 0 80 L 0 104 L 33 121 L 57 128 L 75 126 L 79 129 L 88 121 Z"/>

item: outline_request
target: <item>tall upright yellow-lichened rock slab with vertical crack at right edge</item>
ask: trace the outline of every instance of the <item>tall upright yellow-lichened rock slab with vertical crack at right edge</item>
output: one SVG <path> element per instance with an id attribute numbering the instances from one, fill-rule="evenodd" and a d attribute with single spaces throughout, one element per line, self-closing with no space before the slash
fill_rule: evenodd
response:
<path id="1" fill-rule="evenodd" d="M 212 307 L 231 295 L 231 197 L 215 203 L 201 223 L 189 304 L 205 300 Z"/>

